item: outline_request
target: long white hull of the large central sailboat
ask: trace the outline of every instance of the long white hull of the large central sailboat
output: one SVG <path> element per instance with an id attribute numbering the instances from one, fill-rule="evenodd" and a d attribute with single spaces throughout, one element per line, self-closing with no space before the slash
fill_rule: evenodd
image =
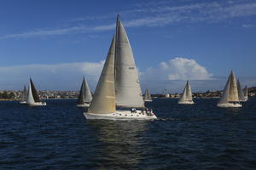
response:
<path id="1" fill-rule="evenodd" d="M 131 113 L 131 111 L 116 111 L 114 113 L 108 114 L 93 114 L 84 112 L 86 119 L 106 119 L 106 120 L 154 120 L 157 117 L 152 113 L 151 115 L 146 114 L 146 112 L 137 111 L 136 113 Z"/>

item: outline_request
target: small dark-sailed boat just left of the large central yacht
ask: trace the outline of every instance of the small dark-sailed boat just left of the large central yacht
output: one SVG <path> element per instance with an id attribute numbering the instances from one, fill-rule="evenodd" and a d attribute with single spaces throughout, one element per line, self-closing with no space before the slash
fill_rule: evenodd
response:
<path id="1" fill-rule="evenodd" d="M 90 93 L 90 88 L 89 88 L 88 83 L 85 80 L 85 78 L 83 78 L 77 106 L 78 107 L 89 107 L 91 99 L 92 99 L 92 97 L 91 97 L 91 93 Z"/>

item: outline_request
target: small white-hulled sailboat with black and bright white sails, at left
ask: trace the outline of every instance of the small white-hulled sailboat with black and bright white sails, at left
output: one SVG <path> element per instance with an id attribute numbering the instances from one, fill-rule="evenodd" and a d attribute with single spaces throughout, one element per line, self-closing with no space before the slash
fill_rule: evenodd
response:
<path id="1" fill-rule="evenodd" d="M 30 81 L 29 81 L 29 87 L 28 87 L 26 104 L 30 105 L 30 106 L 46 105 L 46 103 L 41 101 L 41 99 L 39 98 L 38 91 L 35 88 L 35 85 L 32 82 L 31 78 L 30 78 Z"/>

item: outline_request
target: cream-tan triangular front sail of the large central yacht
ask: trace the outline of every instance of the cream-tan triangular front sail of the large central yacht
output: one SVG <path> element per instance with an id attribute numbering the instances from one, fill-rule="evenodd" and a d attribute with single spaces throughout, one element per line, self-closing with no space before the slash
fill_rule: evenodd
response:
<path id="1" fill-rule="evenodd" d="M 108 50 L 108 56 L 102 69 L 102 74 L 90 103 L 88 112 L 95 114 L 115 112 L 114 93 L 114 40 Z"/>

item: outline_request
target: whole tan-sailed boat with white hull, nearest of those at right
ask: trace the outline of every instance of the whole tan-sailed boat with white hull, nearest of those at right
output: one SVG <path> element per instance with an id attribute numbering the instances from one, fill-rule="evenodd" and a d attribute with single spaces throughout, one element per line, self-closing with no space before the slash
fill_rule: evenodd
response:
<path id="1" fill-rule="evenodd" d="M 231 71 L 230 77 L 224 87 L 224 92 L 218 101 L 218 107 L 241 107 L 239 103 L 236 77 L 234 71 Z"/>

